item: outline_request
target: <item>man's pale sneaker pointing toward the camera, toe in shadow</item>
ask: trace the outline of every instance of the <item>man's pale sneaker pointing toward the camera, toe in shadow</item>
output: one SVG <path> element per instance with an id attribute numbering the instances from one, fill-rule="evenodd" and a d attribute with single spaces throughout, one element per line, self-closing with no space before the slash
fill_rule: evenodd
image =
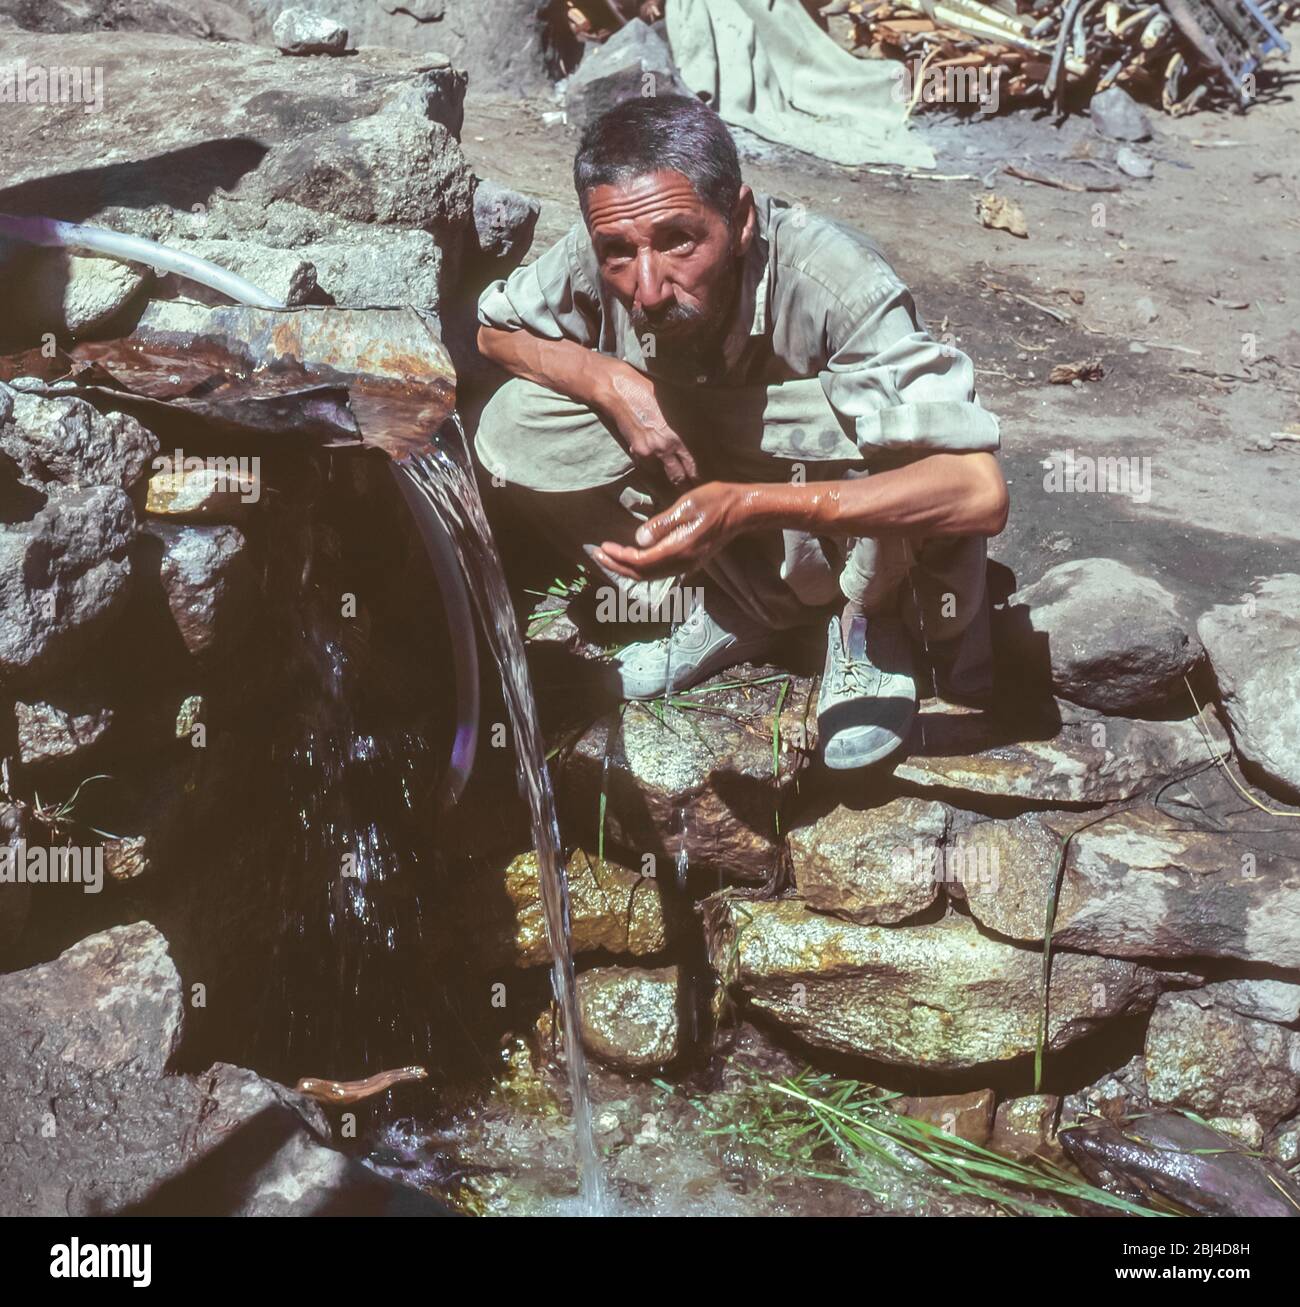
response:
<path id="1" fill-rule="evenodd" d="M 856 617 L 847 639 L 831 618 L 817 698 L 827 767 L 868 767 L 903 746 L 916 716 L 913 667 L 912 642 L 896 617 Z"/>

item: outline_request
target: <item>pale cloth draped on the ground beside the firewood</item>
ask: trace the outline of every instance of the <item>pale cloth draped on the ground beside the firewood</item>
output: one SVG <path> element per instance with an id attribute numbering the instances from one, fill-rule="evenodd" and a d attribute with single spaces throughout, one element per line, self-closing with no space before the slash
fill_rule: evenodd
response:
<path id="1" fill-rule="evenodd" d="M 840 50 L 800 0 L 669 0 L 664 16 L 682 80 L 733 127 L 832 163 L 934 167 L 900 65 Z"/>

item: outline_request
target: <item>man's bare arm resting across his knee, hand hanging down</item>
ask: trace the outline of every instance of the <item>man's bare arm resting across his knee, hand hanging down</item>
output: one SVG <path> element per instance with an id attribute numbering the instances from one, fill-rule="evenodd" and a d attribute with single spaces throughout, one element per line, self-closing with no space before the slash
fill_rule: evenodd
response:
<path id="1" fill-rule="evenodd" d="M 567 395 L 611 422 L 640 464 L 656 463 L 678 488 L 696 477 L 695 460 L 668 425 L 655 383 L 631 363 L 572 340 L 546 340 L 529 331 L 478 328 L 478 349 L 507 372 Z"/>

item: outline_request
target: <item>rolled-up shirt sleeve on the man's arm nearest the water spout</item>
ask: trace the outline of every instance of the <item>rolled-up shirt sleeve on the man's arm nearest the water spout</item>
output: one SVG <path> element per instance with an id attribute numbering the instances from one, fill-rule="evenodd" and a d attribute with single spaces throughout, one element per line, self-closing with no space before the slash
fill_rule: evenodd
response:
<path id="1" fill-rule="evenodd" d="M 583 267 L 581 239 L 574 227 L 534 263 L 494 281 L 478 297 L 479 325 L 594 346 L 601 308 L 592 276 Z"/>

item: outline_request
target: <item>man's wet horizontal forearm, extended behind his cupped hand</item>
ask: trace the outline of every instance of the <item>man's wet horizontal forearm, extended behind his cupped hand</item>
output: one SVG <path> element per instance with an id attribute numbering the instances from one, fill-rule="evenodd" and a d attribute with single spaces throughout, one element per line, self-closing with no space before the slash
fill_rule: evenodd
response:
<path id="1" fill-rule="evenodd" d="M 1009 506 L 992 454 L 932 454 L 866 477 L 734 489 L 742 531 L 819 536 L 996 536 Z"/>

